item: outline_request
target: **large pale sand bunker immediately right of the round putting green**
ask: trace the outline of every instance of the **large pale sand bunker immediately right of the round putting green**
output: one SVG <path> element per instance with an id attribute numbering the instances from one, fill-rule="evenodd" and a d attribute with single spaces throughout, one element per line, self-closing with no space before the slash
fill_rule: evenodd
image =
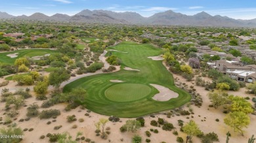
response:
<path id="1" fill-rule="evenodd" d="M 150 86 L 154 86 L 159 91 L 159 93 L 152 97 L 152 99 L 154 99 L 155 101 L 169 101 L 170 99 L 179 97 L 178 93 L 170 90 L 167 87 L 163 87 L 157 84 L 150 84 Z"/>

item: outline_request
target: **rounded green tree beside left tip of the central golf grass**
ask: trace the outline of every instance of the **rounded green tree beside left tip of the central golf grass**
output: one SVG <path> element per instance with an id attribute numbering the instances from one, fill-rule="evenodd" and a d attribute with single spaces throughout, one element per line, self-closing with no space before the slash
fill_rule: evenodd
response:
<path id="1" fill-rule="evenodd" d="M 66 71 L 64 68 L 58 68 L 49 75 L 49 84 L 58 89 L 60 84 L 68 79 L 70 79 L 70 74 L 68 74 L 68 71 Z"/>

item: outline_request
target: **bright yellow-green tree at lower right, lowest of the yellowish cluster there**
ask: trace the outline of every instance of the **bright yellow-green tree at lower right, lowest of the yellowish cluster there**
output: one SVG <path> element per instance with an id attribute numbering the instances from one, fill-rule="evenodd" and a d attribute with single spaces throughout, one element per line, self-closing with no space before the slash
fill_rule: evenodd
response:
<path id="1" fill-rule="evenodd" d="M 244 112 L 230 112 L 226 115 L 226 118 L 224 118 L 224 123 L 232 129 L 234 129 L 235 132 L 240 133 L 242 136 L 244 136 L 244 131 L 242 128 L 247 127 L 250 123 L 249 116 L 245 114 Z"/>

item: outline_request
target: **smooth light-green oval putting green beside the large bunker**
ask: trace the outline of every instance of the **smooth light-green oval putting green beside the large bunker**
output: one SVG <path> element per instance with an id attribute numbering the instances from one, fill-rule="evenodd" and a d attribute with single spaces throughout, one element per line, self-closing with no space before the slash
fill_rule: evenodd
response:
<path id="1" fill-rule="evenodd" d="M 105 91 L 111 101 L 136 101 L 150 94 L 151 88 L 143 84 L 116 84 Z"/>

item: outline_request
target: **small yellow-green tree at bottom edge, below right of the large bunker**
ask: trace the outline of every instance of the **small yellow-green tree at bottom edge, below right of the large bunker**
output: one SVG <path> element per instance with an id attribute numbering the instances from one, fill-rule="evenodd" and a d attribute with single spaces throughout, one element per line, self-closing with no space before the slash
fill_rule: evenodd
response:
<path id="1" fill-rule="evenodd" d="M 202 131 L 199 129 L 198 125 L 196 125 L 196 122 L 193 120 L 190 120 L 184 127 L 182 127 L 184 133 L 189 136 L 189 139 L 191 140 L 193 136 L 201 135 Z"/>

